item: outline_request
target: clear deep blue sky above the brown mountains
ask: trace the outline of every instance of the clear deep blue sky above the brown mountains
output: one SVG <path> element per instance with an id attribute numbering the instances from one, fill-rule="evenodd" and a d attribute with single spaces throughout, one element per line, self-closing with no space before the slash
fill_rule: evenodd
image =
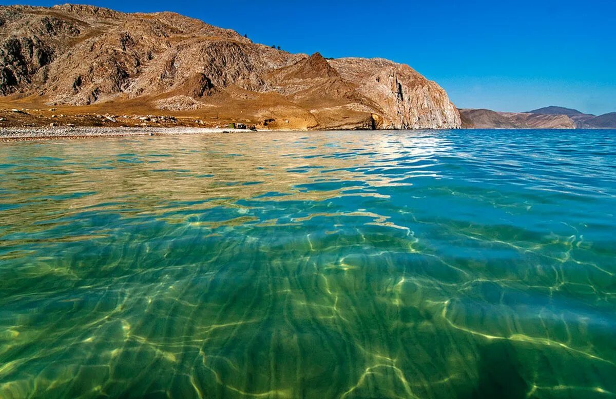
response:
<path id="1" fill-rule="evenodd" d="M 179 12 L 290 52 L 407 63 L 443 86 L 460 108 L 528 111 L 561 105 L 596 114 L 616 111 L 614 0 L 89 4 Z"/>

